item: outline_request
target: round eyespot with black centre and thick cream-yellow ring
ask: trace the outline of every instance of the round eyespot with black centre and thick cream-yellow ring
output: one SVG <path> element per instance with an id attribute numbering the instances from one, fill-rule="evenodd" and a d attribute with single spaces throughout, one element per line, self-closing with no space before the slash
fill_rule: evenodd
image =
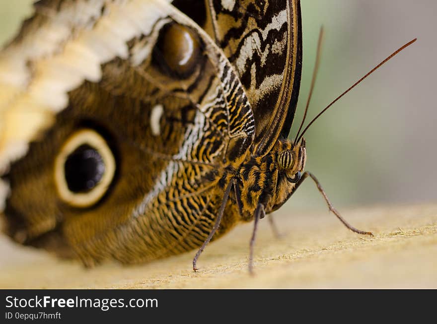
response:
<path id="1" fill-rule="evenodd" d="M 94 130 L 79 130 L 66 140 L 55 160 L 58 194 L 71 206 L 89 207 L 107 192 L 115 168 L 105 139 Z"/>

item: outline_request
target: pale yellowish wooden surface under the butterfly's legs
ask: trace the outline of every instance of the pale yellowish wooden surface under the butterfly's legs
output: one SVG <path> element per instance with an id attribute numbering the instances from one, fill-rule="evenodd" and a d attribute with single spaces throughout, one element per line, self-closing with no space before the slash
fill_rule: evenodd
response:
<path id="1" fill-rule="evenodd" d="M 252 223 L 211 243 L 193 272 L 195 252 L 140 266 L 77 261 L 13 244 L 0 236 L 0 288 L 437 288 L 437 205 L 342 210 L 373 238 L 348 231 L 325 210 L 261 220 L 255 275 L 247 270 Z"/>

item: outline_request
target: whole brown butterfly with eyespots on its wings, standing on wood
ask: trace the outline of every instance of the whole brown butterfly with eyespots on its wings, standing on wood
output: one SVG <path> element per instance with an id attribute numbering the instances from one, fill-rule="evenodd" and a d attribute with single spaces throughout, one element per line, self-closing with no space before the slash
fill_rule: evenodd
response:
<path id="1" fill-rule="evenodd" d="M 307 177 L 349 229 L 371 235 L 303 171 L 302 135 L 330 106 L 288 139 L 298 0 L 35 7 L 0 54 L 0 170 L 16 241 L 85 265 L 200 248 L 196 270 L 213 237 L 254 220 L 251 268 L 258 220 Z"/>

